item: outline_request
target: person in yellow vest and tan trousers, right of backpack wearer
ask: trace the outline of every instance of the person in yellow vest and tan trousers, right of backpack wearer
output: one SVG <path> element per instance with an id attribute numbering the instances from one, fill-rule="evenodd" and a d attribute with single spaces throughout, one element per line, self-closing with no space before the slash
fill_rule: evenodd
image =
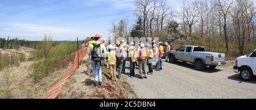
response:
<path id="1" fill-rule="evenodd" d="M 116 61 L 117 61 L 115 48 L 114 46 L 109 45 L 108 49 L 109 49 L 109 52 L 107 57 L 108 57 L 108 65 L 110 69 L 111 80 L 117 81 L 117 73 L 115 72 Z"/>

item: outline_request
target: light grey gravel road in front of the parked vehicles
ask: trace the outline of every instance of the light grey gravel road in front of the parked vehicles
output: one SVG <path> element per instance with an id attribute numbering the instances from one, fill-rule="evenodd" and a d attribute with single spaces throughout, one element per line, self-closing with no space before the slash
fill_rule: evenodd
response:
<path id="1" fill-rule="evenodd" d="M 143 80 L 138 78 L 139 71 L 136 68 L 135 77 L 125 77 L 140 98 L 256 98 L 255 78 L 251 82 L 243 82 L 239 74 L 233 72 L 232 64 L 199 72 L 192 64 L 164 62 L 163 71 L 154 71 L 154 74 Z"/>

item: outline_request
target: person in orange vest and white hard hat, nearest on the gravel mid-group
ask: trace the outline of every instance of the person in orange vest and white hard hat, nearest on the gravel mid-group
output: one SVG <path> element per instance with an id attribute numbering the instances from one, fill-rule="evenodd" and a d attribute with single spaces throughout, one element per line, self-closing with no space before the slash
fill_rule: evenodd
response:
<path id="1" fill-rule="evenodd" d="M 138 56 L 139 56 L 139 74 L 141 74 L 141 79 L 147 78 L 146 74 L 146 65 L 147 65 L 147 50 L 146 46 L 144 46 L 143 43 L 141 43 L 141 49 L 138 50 Z"/>

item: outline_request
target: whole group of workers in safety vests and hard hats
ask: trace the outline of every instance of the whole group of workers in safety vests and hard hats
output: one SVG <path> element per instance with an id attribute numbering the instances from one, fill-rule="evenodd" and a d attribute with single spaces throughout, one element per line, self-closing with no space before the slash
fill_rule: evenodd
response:
<path id="1" fill-rule="evenodd" d="M 159 42 L 159 47 L 152 42 L 149 45 L 138 42 L 138 47 L 135 42 L 130 42 L 127 45 L 125 41 L 117 41 L 116 45 L 112 42 L 107 46 L 106 41 L 100 42 L 100 34 L 92 34 L 91 41 L 88 44 L 88 55 L 91 58 L 91 64 L 94 74 L 94 86 L 102 85 L 102 63 L 106 61 L 107 68 L 110 69 L 111 80 L 117 81 L 121 78 L 122 73 L 125 73 L 126 62 L 130 62 L 129 77 L 135 76 L 135 66 L 139 67 L 141 79 L 147 78 L 147 74 L 153 74 L 153 62 L 156 62 L 156 67 L 159 71 L 163 69 L 163 58 L 168 60 L 171 47 L 168 43 Z M 164 47 L 164 46 L 165 47 Z M 146 67 L 148 65 L 148 72 Z M 118 74 L 117 74 L 118 73 Z"/>

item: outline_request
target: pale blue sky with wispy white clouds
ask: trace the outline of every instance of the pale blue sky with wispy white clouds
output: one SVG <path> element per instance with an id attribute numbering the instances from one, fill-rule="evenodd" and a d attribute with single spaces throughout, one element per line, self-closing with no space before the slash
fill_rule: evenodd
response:
<path id="1" fill-rule="evenodd" d="M 175 8 L 179 0 L 170 0 Z M 91 33 L 109 36 L 110 22 L 129 17 L 135 23 L 133 0 L 0 0 L 0 37 L 56 41 L 84 39 Z"/>

